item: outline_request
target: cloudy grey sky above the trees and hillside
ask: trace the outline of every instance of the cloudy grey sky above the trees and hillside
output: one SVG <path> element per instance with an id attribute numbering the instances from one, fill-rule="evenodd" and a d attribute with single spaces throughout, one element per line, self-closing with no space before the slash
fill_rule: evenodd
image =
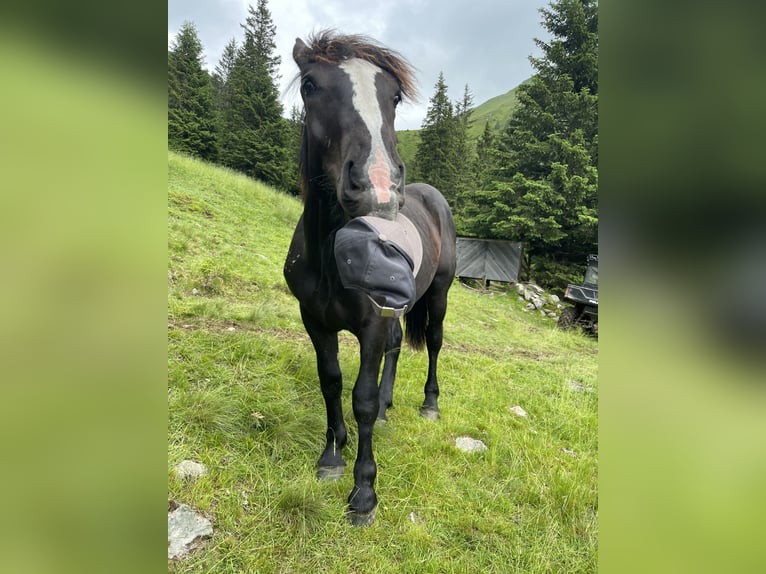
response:
<path id="1" fill-rule="evenodd" d="M 213 71 L 224 46 L 244 36 L 247 7 L 257 0 L 168 0 L 168 44 L 184 21 L 193 22 Z M 420 129 L 439 72 L 451 100 L 462 100 L 466 84 L 474 106 L 515 88 L 534 70 L 539 57 L 534 39 L 548 41 L 539 9 L 546 0 L 269 0 L 276 26 L 276 56 L 281 58 L 279 88 L 285 115 L 300 105 L 288 89 L 298 72 L 292 59 L 295 39 L 335 28 L 365 34 L 403 55 L 415 68 L 420 98 L 397 109 L 396 129 Z"/>

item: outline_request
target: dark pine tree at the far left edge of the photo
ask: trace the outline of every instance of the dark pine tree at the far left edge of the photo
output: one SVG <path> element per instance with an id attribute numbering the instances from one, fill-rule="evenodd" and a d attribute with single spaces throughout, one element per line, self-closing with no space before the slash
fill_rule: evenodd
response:
<path id="1" fill-rule="evenodd" d="M 168 50 L 168 147 L 208 161 L 218 156 L 213 85 L 202 67 L 202 43 L 184 22 Z"/>

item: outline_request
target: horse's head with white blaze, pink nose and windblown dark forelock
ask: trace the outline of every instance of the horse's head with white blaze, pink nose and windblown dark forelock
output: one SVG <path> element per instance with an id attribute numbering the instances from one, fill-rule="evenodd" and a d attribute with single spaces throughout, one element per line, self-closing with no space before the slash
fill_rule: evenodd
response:
<path id="1" fill-rule="evenodd" d="M 346 219 L 393 220 L 404 204 L 404 165 L 396 150 L 394 119 L 414 95 L 412 71 L 395 52 L 362 36 L 324 31 L 296 39 L 305 109 L 302 176 L 334 193 Z"/>

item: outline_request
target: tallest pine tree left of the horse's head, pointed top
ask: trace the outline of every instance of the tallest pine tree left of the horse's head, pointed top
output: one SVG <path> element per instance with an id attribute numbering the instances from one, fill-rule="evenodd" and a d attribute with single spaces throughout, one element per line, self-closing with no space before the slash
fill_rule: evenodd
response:
<path id="1" fill-rule="evenodd" d="M 266 0 L 248 7 L 242 25 L 245 38 L 237 51 L 228 78 L 231 114 L 222 122 L 223 161 L 229 167 L 286 189 L 291 164 L 288 152 L 288 124 L 282 118 L 274 55 L 276 27 Z M 294 163 L 294 162 L 293 162 Z"/>

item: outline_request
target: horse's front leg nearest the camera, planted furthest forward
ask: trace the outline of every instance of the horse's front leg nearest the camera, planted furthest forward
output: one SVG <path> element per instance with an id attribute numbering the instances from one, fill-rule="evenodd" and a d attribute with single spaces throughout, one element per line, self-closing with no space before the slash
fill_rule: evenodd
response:
<path id="1" fill-rule="evenodd" d="M 354 464 L 354 488 L 348 496 L 348 517 L 355 526 L 366 526 L 375 519 L 378 498 L 375 494 L 377 466 L 372 452 L 372 430 L 379 408 L 378 375 L 390 328 L 377 324 L 359 337 L 359 375 L 352 393 L 359 446 Z"/>

